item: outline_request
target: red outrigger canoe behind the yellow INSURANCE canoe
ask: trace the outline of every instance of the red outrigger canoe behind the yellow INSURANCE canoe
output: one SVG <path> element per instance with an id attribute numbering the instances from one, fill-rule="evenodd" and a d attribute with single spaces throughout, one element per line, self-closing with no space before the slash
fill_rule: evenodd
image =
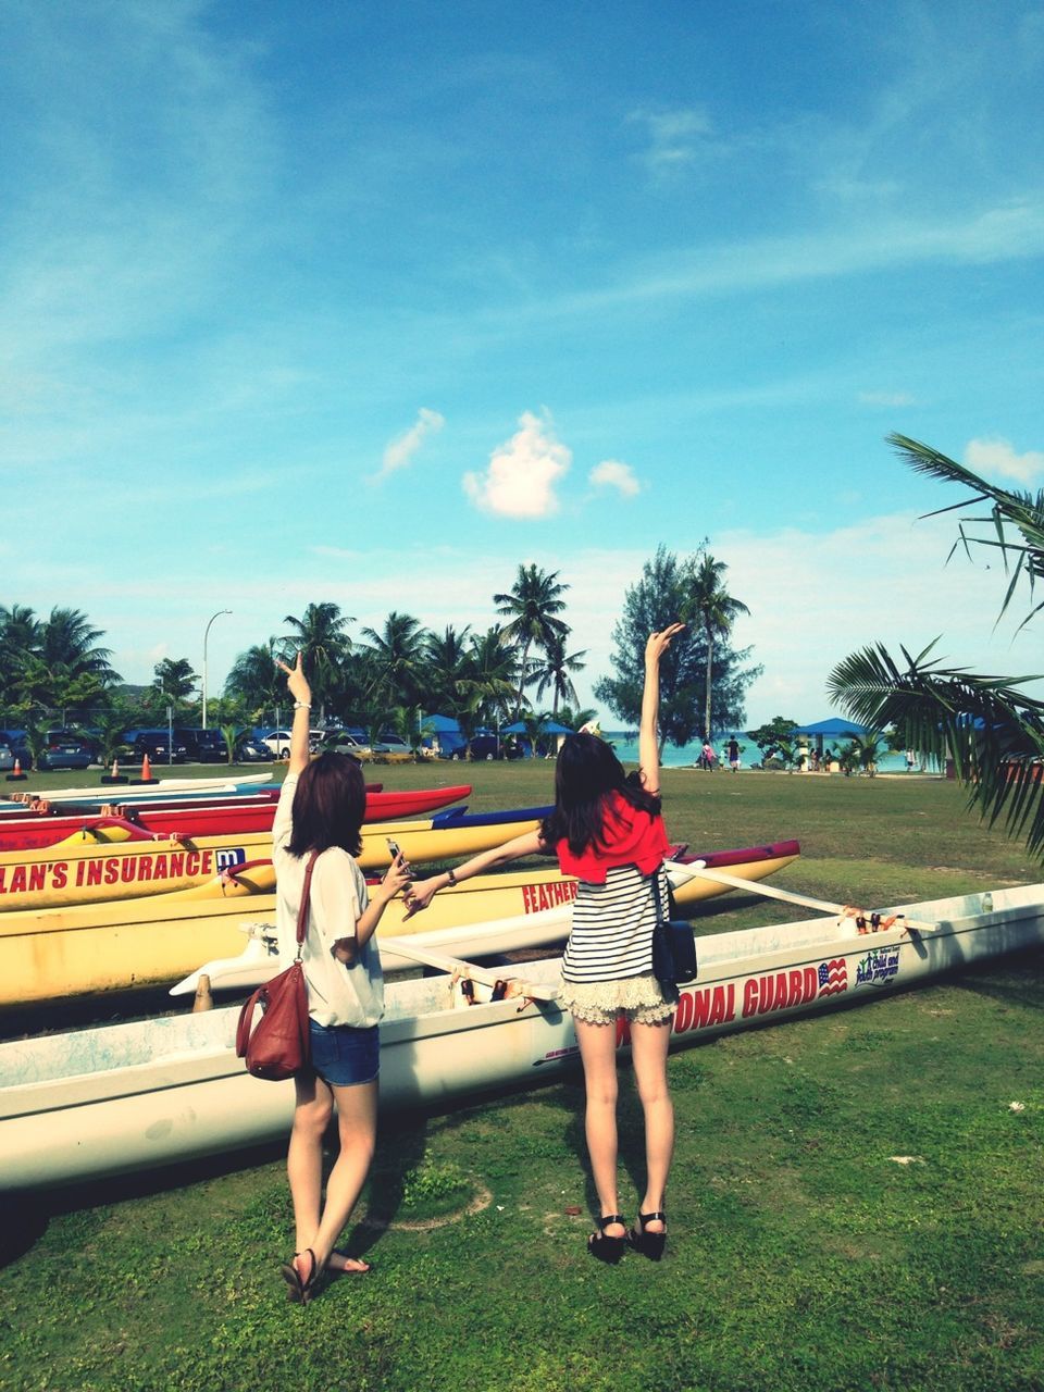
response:
<path id="1" fill-rule="evenodd" d="M 470 793 L 470 786 L 418 788 L 412 792 L 367 792 L 365 821 L 388 821 L 436 812 Z M 155 837 L 232 835 L 267 831 L 276 816 L 278 793 L 228 803 L 205 803 L 191 807 L 117 806 L 97 816 L 49 816 L 0 821 L 0 853 L 6 851 L 40 851 L 70 837 L 93 837 L 99 844 L 145 841 Z"/>

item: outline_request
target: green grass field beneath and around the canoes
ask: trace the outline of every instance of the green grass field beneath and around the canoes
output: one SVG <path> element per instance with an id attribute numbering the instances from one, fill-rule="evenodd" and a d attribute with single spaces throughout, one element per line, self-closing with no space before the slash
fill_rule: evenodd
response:
<path id="1" fill-rule="evenodd" d="M 550 764 L 373 777 L 469 781 L 476 809 L 551 795 Z M 1040 878 L 947 782 L 668 770 L 664 792 L 671 835 L 693 851 L 799 838 L 802 859 L 774 883 L 827 899 Z M 700 930 L 789 912 L 734 895 Z M 292 1231 L 278 1153 L 24 1201 L 3 1228 L 0 1385 L 1041 1388 L 1041 1012 L 1044 954 L 1030 954 L 674 1057 L 660 1265 L 585 1253 L 578 1079 L 386 1125 L 369 1222 L 351 1232 L 374 1272 L 305 1308 L 277 1274 Z M 642 1165 L 625 1068 L 629 1214 Z"/>

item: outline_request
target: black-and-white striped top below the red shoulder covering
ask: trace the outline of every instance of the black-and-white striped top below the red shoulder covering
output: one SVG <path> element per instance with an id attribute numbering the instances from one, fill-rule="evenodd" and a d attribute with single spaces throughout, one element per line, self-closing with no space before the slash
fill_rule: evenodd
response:
<path id="1" fill-rule="evenodd" d="M 663 864 L 650 876 L 638 866 L 615 866 L 604 884 L 580 880 L 562 955 L 564 981 L 617 981 L 653 970 L 657 876 L 665 905 Z"/>

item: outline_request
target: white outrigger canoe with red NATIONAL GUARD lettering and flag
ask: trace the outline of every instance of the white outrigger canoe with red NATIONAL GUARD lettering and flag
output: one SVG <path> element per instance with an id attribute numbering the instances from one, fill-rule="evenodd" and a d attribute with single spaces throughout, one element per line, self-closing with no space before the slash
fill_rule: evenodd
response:
<path id="1" fill-rule="evenodd" d="M 881 1001 L 941 972 L 1044 944 L 1041 884 L 885 913 L 906 919 L 867 935 L 852 919 L 817 917 L 702 938 L 699 979 L 681 992 L 671 1047 Z M 430 965 L 443 965 L 438 954 Z M 454 1008 L 450 976 L 390 983 L 383 1107 L 448 1107 L 574 1066 L 572 1019 L 554 999 L 558 972 L 558 958 L 528 962 L 525 980 L 512 983 L 516 994 L 496 1001 L 489 973 L 475 973 L 479 1004 L 464 1009 Z M 238 1015 L 232 1006 L 0 1044 L 0 1183 L 46 1189 L 285 1137 L 294 1084 L 245 1072 L 234 1047 Z M 625 1025 L 617 1047 L 629 1047 Z"/>

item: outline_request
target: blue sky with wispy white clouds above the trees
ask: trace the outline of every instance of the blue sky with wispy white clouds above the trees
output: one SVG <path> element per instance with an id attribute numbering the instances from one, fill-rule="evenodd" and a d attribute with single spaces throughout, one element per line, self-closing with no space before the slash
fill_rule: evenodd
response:
<path id="1" fill-rule="evenodd" d="M 580 695 L 707 537 L 828 714 L 876 639 L 1040 667 L 899 430 L 1041 486 L 1044 7 L 0 0 L 0 603 L 216 690 L 333 600 L 571 586 Z M 611 725 L 611 717 L 604 715 Z"/>

